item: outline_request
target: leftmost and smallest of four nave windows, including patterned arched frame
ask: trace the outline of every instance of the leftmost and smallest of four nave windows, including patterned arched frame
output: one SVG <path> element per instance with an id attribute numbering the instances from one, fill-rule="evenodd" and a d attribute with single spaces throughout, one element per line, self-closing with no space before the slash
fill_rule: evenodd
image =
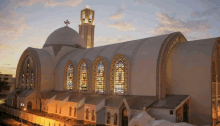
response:
<path id="1" fill-rule="evenodd" d="M 75 83 L 74 73 L 75 73 L 74 64 L 72 61 L 68 61 L 64 69 L 64 83 L 63 83 L 64 90 L 72 90 L 72 91 L 74 90 L 74 83 Z"/>

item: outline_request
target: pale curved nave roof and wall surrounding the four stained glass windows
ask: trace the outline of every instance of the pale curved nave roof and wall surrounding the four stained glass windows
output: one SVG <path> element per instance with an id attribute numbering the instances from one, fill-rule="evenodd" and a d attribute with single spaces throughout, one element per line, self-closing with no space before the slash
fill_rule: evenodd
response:
<path id="1" fill-rule="evenodd" d="M 129 42 L 117 43 L 112 45 L 106 45 L 101 47 L 89 48 L 89 49 L 76 49 L 70 51 L 63 56 L 55 66 L 55 89 L 63 89 L 64 80 L 64 68 L 68 61 L 72 61 L 75 70 L 79 62 L 84 58 L 88 61 L 88 67 L 91 70 L 93 62 L 98 56 L 101 56 L 107 61 L 107 74 L 110 73 L 110 64 L 112 59 L 121 54 L 125 56 L 130 65 L 128 92 L 132 95 L 156 95 L 156 69 L 157 59 L 160 54 L 160 50 L 163 43 L 167 41 L 170 36 L 182 36 L 181 33 L 176 32 L 172 34 L 166 34 L 161 36 L 155 36 L 150 38 L 144 38 L 139 40 L 133 40 Z M 92 70 L 91 72 L 92 73 Z M 109 75 L 107 75 L 109 76 Z M 77 77 L 77 76 L 76 76 Z M 92 74 L 90 76 L 92 78 Z M 75 78 L 77 79 L 77 78 Z M 143 82 L 145 85 L 143 86 Z M 89 81 L 89 85 L 91 81 Z M 134 88 L 134 84 L 137 88 Z M 106 85 L 110 85 L 107 81 Z M 148 88 L 151 87 L 151 88 Z M 90 90 L 90 89 L 89 89 Z M 146 90 L 147 94 L 146 94 Z"/>

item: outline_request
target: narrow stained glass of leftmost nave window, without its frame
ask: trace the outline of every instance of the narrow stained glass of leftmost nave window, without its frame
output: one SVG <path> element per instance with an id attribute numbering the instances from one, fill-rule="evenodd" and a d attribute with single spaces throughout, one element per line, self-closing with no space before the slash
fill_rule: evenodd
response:
<path id="1" fill-rule="evenodd" d="M 67 68 L 67 89 L 73 89 L 73 65 L 70 64 Z"/>

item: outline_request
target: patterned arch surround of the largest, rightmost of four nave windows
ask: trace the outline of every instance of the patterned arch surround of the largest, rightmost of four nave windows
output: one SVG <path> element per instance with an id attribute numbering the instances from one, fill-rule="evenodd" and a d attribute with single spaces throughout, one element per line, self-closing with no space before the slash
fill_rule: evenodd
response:
<path id="1" fill-rule="evenodd" d="M 123 94 L 128 94 L 128 68 L 129 68 L 129 60 L 122 54 L 117 54 L 111 62 L 111 71 L 110 71 L 110 92 L 115 93 L 115 79 L 116 79 L 116 67 L 118 61 L 123 62 L 124 68 L 123 68 L 123 74 L 120 74 L 119 77 L 123 78 L 124 80 L 121 83 L 121 87 L 123 87 Z M 122 84 L 123 83 L 123 84 Z"/>

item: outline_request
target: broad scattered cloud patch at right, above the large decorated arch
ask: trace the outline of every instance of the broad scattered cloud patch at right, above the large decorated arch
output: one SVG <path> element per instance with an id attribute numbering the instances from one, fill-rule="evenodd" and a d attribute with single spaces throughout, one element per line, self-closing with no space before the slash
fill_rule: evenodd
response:
<path id="1" fill-rule="evenodd" d="M 161 35 L 180 31 L 191 40 L 210 38 L 211 36 L 207 31 L 215 27 L 209 25 L 208 20 L 188 20 L 184 22 L 162 13 L 157 13 L 157 20 L 159 21 L 159 25 L 149 33 Z"/>

